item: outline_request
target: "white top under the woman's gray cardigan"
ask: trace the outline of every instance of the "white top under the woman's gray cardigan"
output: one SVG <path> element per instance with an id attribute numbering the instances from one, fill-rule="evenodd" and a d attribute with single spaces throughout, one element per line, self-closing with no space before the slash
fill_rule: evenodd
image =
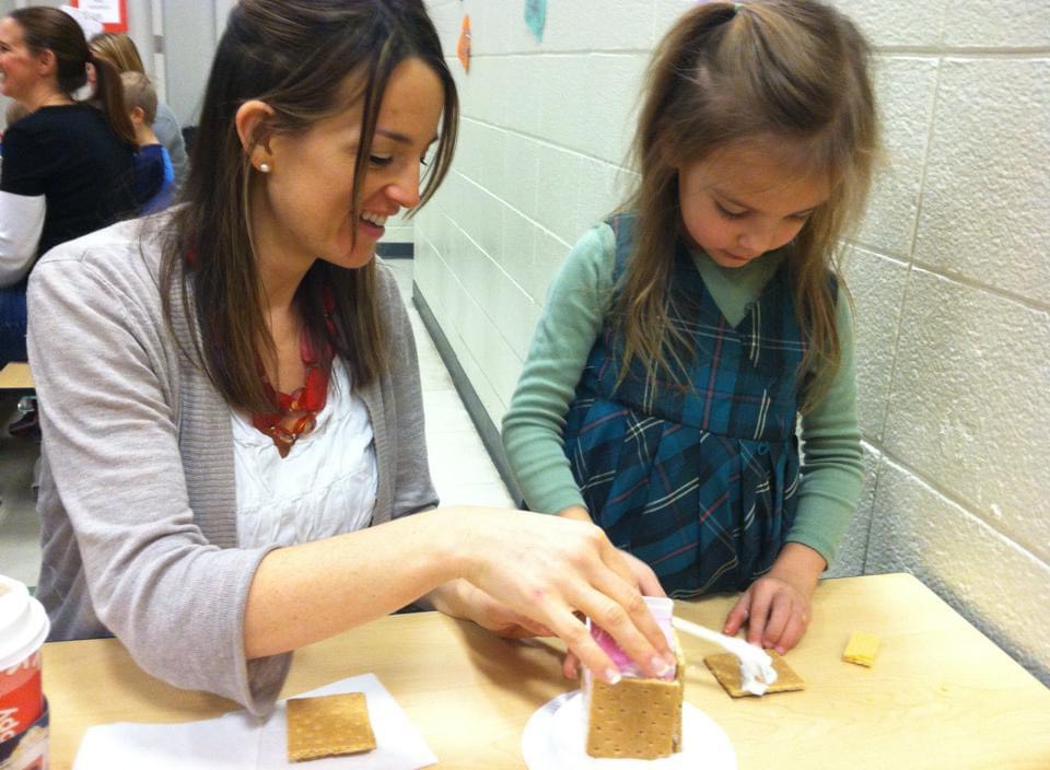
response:
<path id="1" fill-rule="evenodd" d="M 377 483 L 372 421 L 340 359 L 332 362 L 316 428 L 287 457 L 250 416 L 231 415 L 241 548 L 290 546 L 369 526 Z"/>

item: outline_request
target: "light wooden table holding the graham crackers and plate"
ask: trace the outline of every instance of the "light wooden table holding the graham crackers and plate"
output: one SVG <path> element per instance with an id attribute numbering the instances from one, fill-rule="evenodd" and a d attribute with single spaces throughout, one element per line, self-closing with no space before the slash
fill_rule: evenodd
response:
<path id="1" fill-rule="evenodd" d="M 680 603 L 719 627 L 731 597 Z M 792 768 L 1050 768 L 1050 689 L 910 575 L 826 581 L 789 662 L 802 692 L 732 700 L 700 662 L 714 651 L 684 640 L 686 697 L 736 748 L 740 770 Z M 873 668 L 840 661 L 851 631 L 882 637 Z M 396 615 L 299 651 L 282 697 L 375 673 L 441 760 L 466 770 L 523 768 L 522 730 L 567 689 L 545 641 L 511 642 L 425 612 Z M 230 701 L 168 687 L 114 640 L 44 648 L 51 767 L 72 765 L 89 726 L 217 716 Z"/>

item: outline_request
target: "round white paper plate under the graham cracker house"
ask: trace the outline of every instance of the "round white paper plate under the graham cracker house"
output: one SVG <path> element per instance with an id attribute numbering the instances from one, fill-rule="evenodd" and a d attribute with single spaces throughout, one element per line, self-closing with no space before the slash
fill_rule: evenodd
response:
<path id="1" fill-rule="evenodd" d="M 736 752 L 723 730 L 690 703 L 682 703 L 681 751 L 664 759 L 595 759 L 587 756 L 583 698 L 563 692 L 525 724 L 522 756 L 529 770 L 737 770 Z"/>

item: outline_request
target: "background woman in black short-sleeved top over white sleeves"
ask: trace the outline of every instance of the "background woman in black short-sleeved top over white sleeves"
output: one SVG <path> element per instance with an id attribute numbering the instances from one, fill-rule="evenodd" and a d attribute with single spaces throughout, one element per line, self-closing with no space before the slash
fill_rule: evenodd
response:
<path id="1" fill-rule="evenodd" d="M 0 174 L 0 364 L 25 360 L 25 276 L 38 255 L 132 212 L 135 131 L 117 72 L 98 70 L 100 108 L 72 93 L 91 51 L 52 8 L 0 21 L 2 91 L 31 113 L 3 136 Z"/>

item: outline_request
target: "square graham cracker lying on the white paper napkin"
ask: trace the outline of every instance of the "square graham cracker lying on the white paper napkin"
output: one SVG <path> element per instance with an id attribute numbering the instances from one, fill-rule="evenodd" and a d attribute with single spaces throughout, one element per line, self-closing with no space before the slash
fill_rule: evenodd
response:
<path id="1" fill-rule="evenodd" d="M 371 751 L 375 735 L 363 692 L 288 701 L 288 760 Z"/>

